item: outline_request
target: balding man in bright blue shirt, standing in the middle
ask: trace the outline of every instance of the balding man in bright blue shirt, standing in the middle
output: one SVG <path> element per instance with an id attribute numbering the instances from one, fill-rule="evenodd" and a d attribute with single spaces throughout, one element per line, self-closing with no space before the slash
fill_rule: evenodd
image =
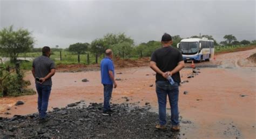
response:
<path id="1" fill-rule="evenodd" d="M 113 111 L 110 109 L 110 99 L 113 87 L 117 87 L 114 80 L 114 64 L 112 61 L 113 52 L 110 49 L 105 51 L 106 57 L 100 62 L 100 74 L 102 77 L 102 84 L 104 86 L 104 109 L 103 115 L 110 115 Z"/>

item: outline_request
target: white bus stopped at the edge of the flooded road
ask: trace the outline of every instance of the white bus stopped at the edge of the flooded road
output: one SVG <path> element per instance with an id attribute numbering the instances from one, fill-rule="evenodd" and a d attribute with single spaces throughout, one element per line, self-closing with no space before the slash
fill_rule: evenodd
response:
<path id="1" fill-rule="evenodd" d="M 214 57 L 214 41 L 207 38 L 182 39 L 177 47 L 182 53 L 184 61 L 209 61 Z"/>

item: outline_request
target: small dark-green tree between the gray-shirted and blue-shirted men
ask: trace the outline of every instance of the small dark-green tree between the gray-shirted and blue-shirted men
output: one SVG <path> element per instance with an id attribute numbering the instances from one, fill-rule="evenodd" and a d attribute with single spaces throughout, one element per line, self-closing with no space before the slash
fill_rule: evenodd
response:
<path id="1" fill-rule="evenodd" d="M 78 63 L 80 62 L 80 54 L 83 54 L 87 51 L 87 48 L 90 44 L 89 43 L 76 43 L 71 44 L 69 46 L 69 51 L 78 54 Z"/>

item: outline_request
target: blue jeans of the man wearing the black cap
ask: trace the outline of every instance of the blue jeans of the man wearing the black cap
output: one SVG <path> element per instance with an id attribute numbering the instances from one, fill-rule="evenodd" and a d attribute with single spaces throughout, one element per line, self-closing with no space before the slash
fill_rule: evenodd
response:
<path id="1" fill-rule="evenodd" d="M 176 126 L 179 124 L 179 84 L 175 82 L 171 85 L 168 81 L 157 81 L 156 92 L 158 99 L 159 109 L 159 123 L 161 125 L 166 124 L 166 96 L 168 95 L 170 107 L 171 107 L 171 121 L 172 125 Z"/>

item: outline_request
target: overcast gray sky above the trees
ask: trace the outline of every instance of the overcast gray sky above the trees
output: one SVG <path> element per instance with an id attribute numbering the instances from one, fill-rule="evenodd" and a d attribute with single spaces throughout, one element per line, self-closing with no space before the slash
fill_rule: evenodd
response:
<path id="1" fill-rule="evenodd" d="M 209 34 L 223 41 L 256 39 L 255 1 L 6 1 L 0 0 L 0 29 L 32 32 L 35 47 L 91 43 L 122 33 L 136 44 L 160 40 L 164 32 L 183 38 Z"/>

